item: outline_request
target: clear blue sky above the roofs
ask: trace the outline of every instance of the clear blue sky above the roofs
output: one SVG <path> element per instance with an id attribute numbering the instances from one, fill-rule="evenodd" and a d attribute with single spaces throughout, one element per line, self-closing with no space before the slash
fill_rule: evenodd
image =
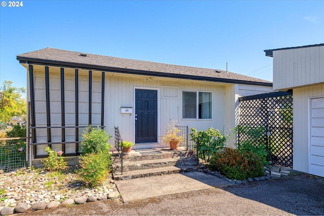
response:
<path id="1" fill-rule="evenodd" d="M 324 42 L 324 1 L 22 1 L 0 7 L 0 83 L 46 47 L 226 69 L 272 81 L 263 50 Z M 21 2 L 21 1 L 19 1 Z"/>

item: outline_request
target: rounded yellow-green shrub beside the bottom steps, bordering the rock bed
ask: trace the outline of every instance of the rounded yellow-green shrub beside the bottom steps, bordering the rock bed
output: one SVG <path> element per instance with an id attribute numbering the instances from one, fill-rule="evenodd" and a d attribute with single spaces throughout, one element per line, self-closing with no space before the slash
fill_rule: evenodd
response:
<path id="1" fill-rule="evenodd" d="M 111 156 L 108 152 L 88 153 L 79 157 L 79 176 L 91 186 L 101 185 L 107 179 L 111 167 Z"/>

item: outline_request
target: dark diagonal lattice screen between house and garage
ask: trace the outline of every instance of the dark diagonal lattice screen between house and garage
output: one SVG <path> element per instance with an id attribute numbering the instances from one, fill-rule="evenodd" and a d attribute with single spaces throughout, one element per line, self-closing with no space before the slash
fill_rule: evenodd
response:
<path id="1" fill-rule="evenodd" d="M 293 166 L 293 95 L 272 92 L 239 98 L 238 143 L 260 132 L 259 141 L 266 144 L 272 162 Z M 255 143 L 260 143 L 256 141 Z"/>

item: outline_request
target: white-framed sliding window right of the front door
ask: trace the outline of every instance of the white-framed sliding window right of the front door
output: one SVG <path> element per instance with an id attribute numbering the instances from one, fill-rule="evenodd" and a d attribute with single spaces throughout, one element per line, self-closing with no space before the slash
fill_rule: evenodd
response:
<path id="1" fill-rule="evenodd" d="M 213 93 L 182 91 L 182 119 L 212 119 Z"/>

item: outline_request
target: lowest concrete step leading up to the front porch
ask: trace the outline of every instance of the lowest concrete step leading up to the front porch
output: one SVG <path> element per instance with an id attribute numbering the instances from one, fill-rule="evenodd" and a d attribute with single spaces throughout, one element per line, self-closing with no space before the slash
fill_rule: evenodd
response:
<path id="1" fill-rule="evenodd" d="M 143 169 L 143 170 L 132 170 L 132 171 L 123 172 L 123 175 L 121 175 L 121 173 L 115 173 L 113 174 L 113 179 L 115 181 L 120 181 L 125 179 L 150 177 L 156 175 L 192 172 L 192 171 L 197 171 L 198 168 L 199 167 L 196 166 L 179 166 L 179 167 L 167 166 L 167 167 L 158 167 L 158 168 Z"/>

